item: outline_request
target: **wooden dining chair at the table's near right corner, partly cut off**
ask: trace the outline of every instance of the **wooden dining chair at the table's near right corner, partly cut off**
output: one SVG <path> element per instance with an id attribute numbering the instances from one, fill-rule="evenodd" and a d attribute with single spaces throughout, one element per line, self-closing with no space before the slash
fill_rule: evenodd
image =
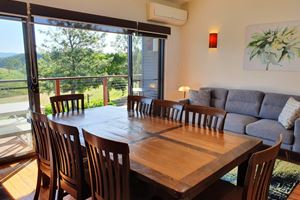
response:
<path id="1" fill-rule="evenodd" d="M 267 200 L 272 172 L 281 143 L 282 135 L 274 146 L 251 156 L 243 187 L 219 180 L 196 199 Z"/>

